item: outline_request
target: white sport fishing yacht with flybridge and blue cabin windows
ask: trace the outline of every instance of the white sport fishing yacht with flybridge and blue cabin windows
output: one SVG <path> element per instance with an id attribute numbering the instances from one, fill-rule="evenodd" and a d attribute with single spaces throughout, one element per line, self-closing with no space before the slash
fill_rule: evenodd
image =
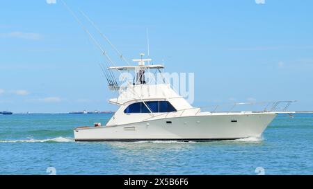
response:
<path id="1" fill-rule="evenodd" d="M 109 81 L 110 89 L 119 91 L 118 98 L 109 100 L 118 110 L 106 125 L 95 123 L 93 127 L 74 129 L 75 141 L 220 141 L 259 137 L 278 113 L 286 113 L 292 102 L 270 102 L 273 106 L 269 111 L 201 111 L 179 96 L 170 84 L 145 81 L 147 71 L 161 72 L 163 65 L 146 64 L 150 59 L 135 61 L 136 66 L 108 68 L 134 71 L 134 81 L 125 87 Z M 275 111 L 280 103 L 287 105 L 282 112 Z"/>

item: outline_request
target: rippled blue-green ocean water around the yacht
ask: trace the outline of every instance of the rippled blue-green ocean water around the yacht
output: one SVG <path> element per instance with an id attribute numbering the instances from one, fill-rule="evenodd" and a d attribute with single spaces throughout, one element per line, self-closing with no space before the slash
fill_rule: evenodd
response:
<path id="1" fill-rule="evenodd" d="M 110 116 L 0 115 L 0 174 L 313 174 L 313 114 L 279 115 L 262 138 L 74 142 L 74 127 Z"/>

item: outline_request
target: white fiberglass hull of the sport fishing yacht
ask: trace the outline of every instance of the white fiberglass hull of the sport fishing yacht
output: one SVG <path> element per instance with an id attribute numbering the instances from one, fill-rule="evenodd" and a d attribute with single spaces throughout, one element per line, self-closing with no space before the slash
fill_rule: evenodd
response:
<path id="1" fill-rule="evenodd" d="M 183 116 L 74 130 L 75 141 L 219 141 L 262 135 L 275 113 Z"/>

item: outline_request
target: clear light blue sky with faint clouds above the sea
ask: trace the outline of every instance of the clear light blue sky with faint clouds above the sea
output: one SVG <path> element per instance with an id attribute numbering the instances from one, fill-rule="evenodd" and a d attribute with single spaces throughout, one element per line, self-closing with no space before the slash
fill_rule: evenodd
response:
<path id="1" fill-rule="evenodd" d="M 313 110 L 313 1 L 66 2 L 129 61 L 146 53 L 149 28 L 155 63 L 195 73 L 193 105 L 298 100 L 291 109 Z M 114 109 L 100 54 L 61 1 L 1 1 L 0 111 Z"/>

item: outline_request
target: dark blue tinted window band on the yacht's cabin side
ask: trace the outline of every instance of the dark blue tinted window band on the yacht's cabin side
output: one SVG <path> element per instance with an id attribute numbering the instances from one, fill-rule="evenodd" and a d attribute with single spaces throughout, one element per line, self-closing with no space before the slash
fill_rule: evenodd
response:
<path id="1" fill-rule="evenodd" d="M 150 108 L 152 113 L 166 113 L 177 111 L 168 101 L 146 101 L 145 104 Z M 150 113 L 149 109 L 143 102 L 136 102 L 129 105 L 125 110 L 125 114 Z"/>

